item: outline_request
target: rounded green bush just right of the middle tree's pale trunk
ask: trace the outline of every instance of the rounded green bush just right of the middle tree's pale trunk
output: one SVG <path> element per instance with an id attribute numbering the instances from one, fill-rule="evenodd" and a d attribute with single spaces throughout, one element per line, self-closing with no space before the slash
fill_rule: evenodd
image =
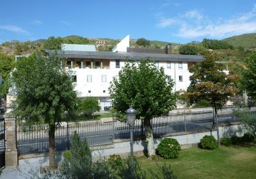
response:
<path id="1" fill-rule="evenodd" d="M 175 159 L 178 157 L 180 144 L 176 139 L 165 138 L 157 147 L 157 152 L 164 159 Z"/>

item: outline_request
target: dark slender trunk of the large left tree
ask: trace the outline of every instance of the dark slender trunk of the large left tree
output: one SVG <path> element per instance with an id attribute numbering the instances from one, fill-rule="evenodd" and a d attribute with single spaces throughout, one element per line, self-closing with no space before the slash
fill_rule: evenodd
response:
<path id="1" fill-rule="evenodd" d="M 57 167 L 55 160 L 55 125 L 49 125 L 49 167 Z"/>

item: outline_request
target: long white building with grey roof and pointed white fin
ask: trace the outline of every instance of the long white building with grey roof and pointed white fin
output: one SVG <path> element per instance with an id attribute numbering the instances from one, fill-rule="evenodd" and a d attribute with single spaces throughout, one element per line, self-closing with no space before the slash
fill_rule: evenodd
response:
<path id="1" fill-rule="evenodd" d="M 65 44 L 67 49 L 67 44 Z M 175 82 L 173 91 L 186 90 L 190 84 L 188 68 L 202 56 L 171 54 L 172 46 L 168 44 L 164 49 L 132 49 L 129 48 L 129 36 L 126 36 L 113 52 L 102 51 L 76 51 L 72 47 L 61 53 L 67 60 L 67 68 L 74 72 L 75 90 L 79 97 L 97 97 L 103 107 L 111 105 L 109 97 L 109 82 L 118 77 L 118 72 L 125 66 L 125 59 L 134 59 L 136 62 L 142 58 L 154 61 L 158 68 L 163 67 L 168 79 Z M 93 48 L 90 48 L 93 49 Z"/>

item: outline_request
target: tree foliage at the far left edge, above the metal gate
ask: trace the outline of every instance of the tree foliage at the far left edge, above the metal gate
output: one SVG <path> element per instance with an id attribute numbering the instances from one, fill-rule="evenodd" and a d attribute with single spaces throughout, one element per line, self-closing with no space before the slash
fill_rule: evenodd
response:
<path id="1" fill-rule="evenodd" d="M 15 66 L 15 60 L 13 56 L 7 56 L 0 53 L 0 75 L 2 82 L 0 83 L 0 99 L 6 97 L 8 89 L 10 88 L 10 73 Z"/>

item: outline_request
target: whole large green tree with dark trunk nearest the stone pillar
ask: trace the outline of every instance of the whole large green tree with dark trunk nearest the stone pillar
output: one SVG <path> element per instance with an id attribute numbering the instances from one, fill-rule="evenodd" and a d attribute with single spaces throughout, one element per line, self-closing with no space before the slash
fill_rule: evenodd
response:
<path id="1" fill-rule="evenodd" d="M 33 54 L 17 61 L 13 82 L 17 100 L 14 113 L 26 124 L 49 125 L 49 166 L 56 167 L 55 127 L 65 113 L 74 109 L 76 92 L 72 79 L 64 68 L 65 61 L 55 54 Z"/>

